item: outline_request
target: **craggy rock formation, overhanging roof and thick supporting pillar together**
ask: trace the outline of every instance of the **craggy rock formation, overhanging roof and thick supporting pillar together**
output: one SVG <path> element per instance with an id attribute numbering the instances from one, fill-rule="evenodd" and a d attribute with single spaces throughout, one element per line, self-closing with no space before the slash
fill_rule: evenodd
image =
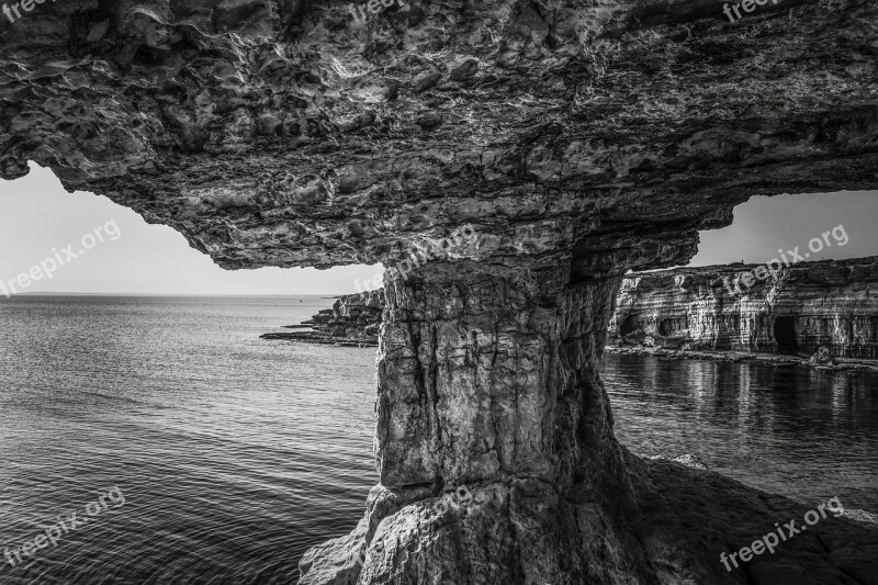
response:
<path id="1" fill-rule="evenodd" d="M 637 499 L 597 359 L 629 269 L 685 265 L 754 194 L 878 187 L 878 4 L 29 5 L 0 18 L 3 178 L 50 167 L 226 268 L 477 234 L 385 281 L 382 485 L 303 583 L 754 582 L 644 525 L 686 506 Z M 471 506 L 430 513 L 461 484 Z M 849 555 L 809 554 L 846 582 Z"/>

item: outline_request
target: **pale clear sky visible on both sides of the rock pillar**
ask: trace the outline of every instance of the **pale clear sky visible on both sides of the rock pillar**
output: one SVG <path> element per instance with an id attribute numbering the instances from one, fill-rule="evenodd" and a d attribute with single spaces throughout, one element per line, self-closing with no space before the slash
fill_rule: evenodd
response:
<path id="1" fill-rule="evenodd" d="M 877 191 L 753 198 L 735 209 L 730 227 L 700 234 L 690 266 L 766 262 L 797 246 L 809 260 L 878 255 L 877 220 Z M 809 251 L 809 243 L 818 248 L 812 238 L 822 239 L 819 254 Z M 170 227 L 149 225 L 104 196 L 67 193 L 34 164 L 26 177 L 0 179 L 0 286 L 13 282 L 14 292 L 27 293 L 335 295 L 375 288 L 362 283 L 383 272 L 381 265 L 224 270 Z M 14 283 L 41 263 L 40 280 Z M 44 275 L 49 270 L 52 279 Z"/>

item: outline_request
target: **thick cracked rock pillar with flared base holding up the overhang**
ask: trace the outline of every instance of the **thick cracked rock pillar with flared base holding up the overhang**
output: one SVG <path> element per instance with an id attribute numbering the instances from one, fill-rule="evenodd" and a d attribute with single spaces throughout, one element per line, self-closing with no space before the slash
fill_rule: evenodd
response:
<path id="1" fill-rule="evenodd" d="M 385 282 L 381 485 L 302 583 L 652 582 L 598 375 L 620 278 L 571 273 L 437 261 Z"/>

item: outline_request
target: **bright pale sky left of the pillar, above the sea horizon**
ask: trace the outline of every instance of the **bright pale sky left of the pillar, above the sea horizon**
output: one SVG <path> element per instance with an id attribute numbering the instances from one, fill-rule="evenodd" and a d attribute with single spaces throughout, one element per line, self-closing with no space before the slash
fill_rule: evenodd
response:
<path id="1" fill-rule="evenodd" d="M 30 167 L 21 179 L 0 179 L 0 282 L 53 258 L 53 248 L 67 263 L 50 280 L 31 283 L 29 293 L 335 295 L 357 292 L 354 279 L 364 281 L 384 270 L 381 265 L 224 270 L 170 227 L 149 225 L 104 196 L 67 193 L 50 170 L 33 162 Z M 82 237 L 99 227 L 104 227 L 103 241 L 67 260 L 64 248 L 75 243 L 71 251 L 78 252 Z"/>

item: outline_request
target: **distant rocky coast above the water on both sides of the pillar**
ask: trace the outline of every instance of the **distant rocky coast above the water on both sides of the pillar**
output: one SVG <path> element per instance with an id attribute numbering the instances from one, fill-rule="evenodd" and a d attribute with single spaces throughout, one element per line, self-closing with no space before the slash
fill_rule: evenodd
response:
<path id="1" fill-rule="evenodd" d="M 753 265 L 755 266 L 755 265 Z M 725 286 L 745 265 L 634 272 L 622 281 L 606 351 L 878 372 L 878 257 L 802 262 L 744 294 Z M 378 347 L 384 290 L 338 297 L 282 339 Z"/>

